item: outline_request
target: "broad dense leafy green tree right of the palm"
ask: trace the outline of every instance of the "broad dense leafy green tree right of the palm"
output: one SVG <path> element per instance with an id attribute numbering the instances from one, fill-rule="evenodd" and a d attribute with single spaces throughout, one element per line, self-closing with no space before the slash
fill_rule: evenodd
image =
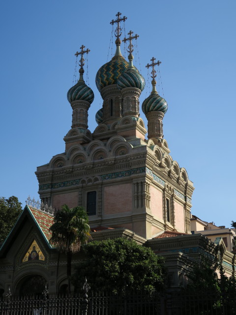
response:
<path id="1" fill-rule="evenodd" d="M 82 249 L 85 259 L 75 268 L 77 289 L 85 277 L 94 291 L 124 293 L 129 290 L 161 290 L 164 284 L 164 258 L 150 248 L 124 238 L 92 241 Z"/>

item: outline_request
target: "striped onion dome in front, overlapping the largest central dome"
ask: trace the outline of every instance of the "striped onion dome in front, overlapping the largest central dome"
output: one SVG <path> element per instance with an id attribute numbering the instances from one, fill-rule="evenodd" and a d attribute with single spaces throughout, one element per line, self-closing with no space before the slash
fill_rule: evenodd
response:
<path id="1" fill-rule="evenodd" d="M 145 79 L 137 69 L 129 67 L 118 78 L 117 86 L 119 90 L 132 87 L 143 91 L 145 88 Z"/>

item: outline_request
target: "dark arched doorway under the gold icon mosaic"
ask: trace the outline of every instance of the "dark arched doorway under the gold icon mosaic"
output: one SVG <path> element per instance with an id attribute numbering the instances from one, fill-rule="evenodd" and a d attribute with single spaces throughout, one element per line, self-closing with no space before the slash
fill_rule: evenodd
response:
<path id="1" fill-rule="evenodd" d="M 39 275 L 29 275 L 25 277 L 18 285 L 19 296 L 39 297 L 45 289 L 46 280 Z"/>

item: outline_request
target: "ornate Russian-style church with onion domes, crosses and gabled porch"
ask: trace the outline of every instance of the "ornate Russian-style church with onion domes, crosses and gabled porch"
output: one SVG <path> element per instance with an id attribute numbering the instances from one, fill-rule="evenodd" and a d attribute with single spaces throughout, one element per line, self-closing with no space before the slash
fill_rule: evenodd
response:
<path id="1" fill-rule="evenodd" d="M 55 155 L 35 172 L 42 201 L 40 209 L 27 205 L 0 249 L 0 293 L 63 292 L 66 259 L 49 244 L 53 209 L 67 204 L 83 206 L 89 215 L 94 240 L 127 237 L 146 244 L 166 258 L 170 285 L 184 283 L 193 260 L 206 254 L 221 259 L 228 274 L 234 271 L 234 255 L 222 240 L 211 242 L 191 234 L 191 198 L 194 186 L 187 171 L 170 155 L 163 137 L 167 101 L 156 91 L 153 57 L 151 93 L 140 104 L 145 79 L 133 64 L 134 41 L 129 32 L 128 61 L 121 54 L 120 24 L 126 17 L 118 12 L 116 53 L 99 65 L 95 82 L 103 99 L 95 116 L 97 127 L 89 130 L 89 107 L 93 91 L 84 75 L 85 46 L 80 57 L 78 82 L 67 93 L 72 125 L 64 137 L 65 152 Z M 145 115 L 148 126 L 142 119 Z M 68 122 L 69 125 L 69 122 Z M 79 259 L 73 256 L 73 264 Z"/>

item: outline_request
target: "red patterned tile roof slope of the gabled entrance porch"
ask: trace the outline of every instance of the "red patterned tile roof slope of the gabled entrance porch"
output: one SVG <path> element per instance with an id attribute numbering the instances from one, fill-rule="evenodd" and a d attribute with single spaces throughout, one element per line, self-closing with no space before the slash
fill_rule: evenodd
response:
<path id="1" fill-rule="evenodd" d="M 29 206 L 29 210 L 31 211 L 33 217 L 35 218 L 36 222 L 38 223 L 39 227 L 43 231 L 46 239 L 49 239 L 52 236 L 52 233 L 49 231 L 50 226 L 53 224 L 54 217 L 52 215 L 47 214 L 44 211 L 39 209 L 33 208 Z"/>

